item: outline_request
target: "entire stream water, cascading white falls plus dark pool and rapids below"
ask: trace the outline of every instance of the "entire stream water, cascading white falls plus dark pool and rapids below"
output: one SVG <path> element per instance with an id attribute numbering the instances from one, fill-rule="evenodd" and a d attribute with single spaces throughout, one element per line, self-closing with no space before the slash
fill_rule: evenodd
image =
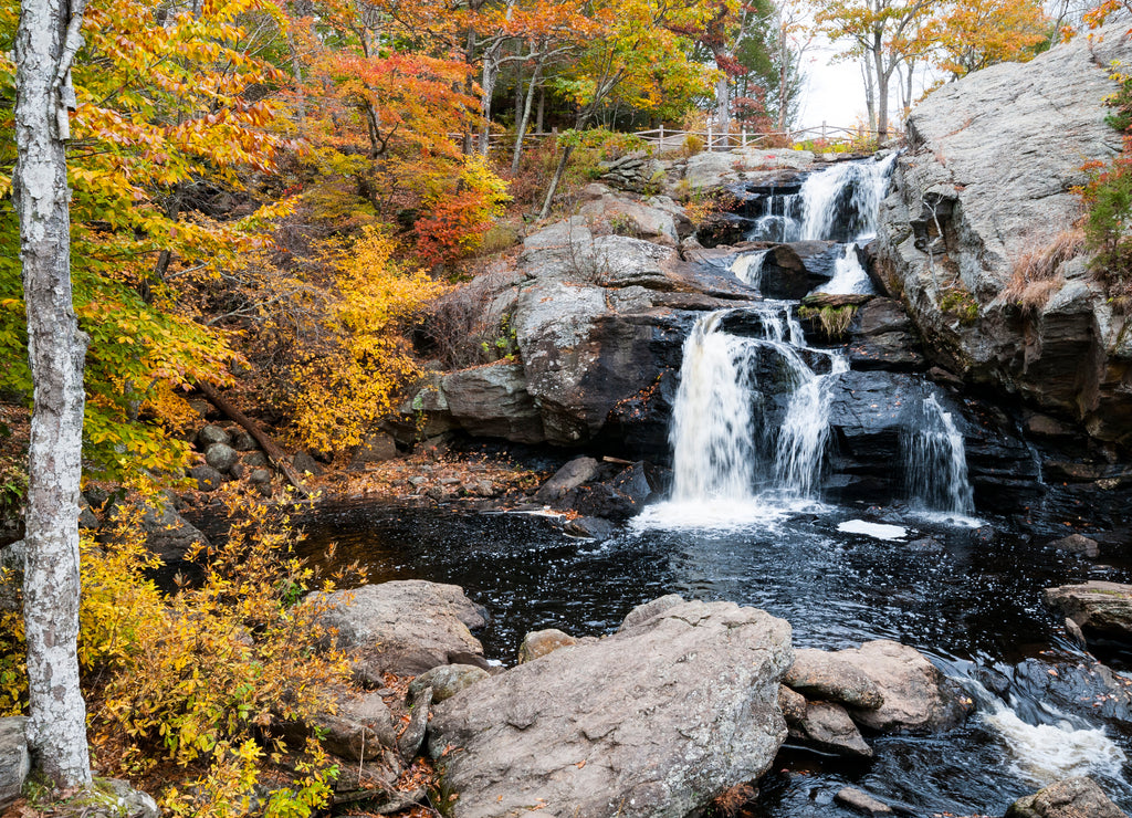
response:
<path id="1" fill-rule="evenodd" d="M 868 292 L 856 247 L 874 229 L 890 166 L 812 174 L 800 191 L 765 203 L 749 238 L 842 241 L 822 290 Z M 761 261 L 741 255 L 731 269 L 757 287 Z M 336 542 L 336 559 L 358 560 L 369 582 L 462 586 L 491 618 L 478 634 L 487 656 L 507 665 L 529 630 L 600 636 L 635 605 L 677 593 L 762 608 L 791 623 L 796 647 L 911 645 L 975 703 L 954 730 L 871 738 L 875 757 L 864 763 L 788 742 L 744 815 L 854 815 L 833 801 L 851 785 L 908 815 L 1001 816 L 1069 775 L 1091 775 L 1132 809 L 1132 681 L 1107 675 L 1041 602 L 1054 585 L 1129 582 L 1132 563 L 1044 548 L 975 508 L 962 436 L 927 382 L 919 428 L 902 441 L 907 497 L 823 500 L 827 386 L 848 363 L 838 350 L 806 346 L 796 307 L 744 308 L 743 336 L 727 330 L 726 313 L 697 320 L 674 408 L 670 494 L 611 540 L 567 537 L 540 515 L 370 503 L 312 517 L 303 550 L 317 562 Z M 764 395 L 769 369 L 778 376 Z"/>

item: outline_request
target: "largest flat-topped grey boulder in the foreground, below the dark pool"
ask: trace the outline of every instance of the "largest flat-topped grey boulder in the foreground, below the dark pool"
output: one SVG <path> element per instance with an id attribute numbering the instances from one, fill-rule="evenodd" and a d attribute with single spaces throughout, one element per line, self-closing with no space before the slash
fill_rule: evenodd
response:
<path id="1" fill-rule="evenodd" d="M 440 704 L 429 751 L 455 818 L 683 818 L 762 775 L 786 738 L 790 626 L 689 602 Z"/>

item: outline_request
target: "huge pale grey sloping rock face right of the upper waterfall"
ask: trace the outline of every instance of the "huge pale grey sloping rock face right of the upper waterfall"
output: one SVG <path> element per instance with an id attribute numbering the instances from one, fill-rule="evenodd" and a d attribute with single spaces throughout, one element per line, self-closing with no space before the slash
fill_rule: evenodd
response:
<path id="1" fill-rule="evenodd" d="M 972 72 L 920 103 L 876 253 L 885 289 L 902 296 L 937 363 L 1127 445 L 1125 321 L 1088 274 L 1080 242 L 1062 235 L 1080 213 L 1082 165 L 1121 147 L 1104 100 L 1117 87 L 1113 61 L 1132 59 L 1125 27 Z M 1055 267 L 1039 282 L 1048 298 L 1023 309 L 1017 290 L 1026 282 L 1006 287 L 1043 256 Z"/>

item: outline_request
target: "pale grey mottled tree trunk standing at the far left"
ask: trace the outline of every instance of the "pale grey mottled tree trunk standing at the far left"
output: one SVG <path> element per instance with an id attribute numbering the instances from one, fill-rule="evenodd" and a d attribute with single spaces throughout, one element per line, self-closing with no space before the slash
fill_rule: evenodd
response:
<path id="1" fill-rule="evenodd" d="M 36 765 L 57 786 L 91 781 L 78 658 L 78 490 L 86 336 L 71 305 L 67 109 L 83 0 L 23 0 L 16 34 L 16 147 L 28 351 L 35 384 L 24 622 Z"/>

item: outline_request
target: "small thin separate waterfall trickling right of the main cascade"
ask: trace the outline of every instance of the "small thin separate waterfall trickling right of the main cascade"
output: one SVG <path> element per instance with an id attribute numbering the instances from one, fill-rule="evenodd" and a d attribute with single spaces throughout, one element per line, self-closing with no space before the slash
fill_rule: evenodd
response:
<path id="1" fill-rule="evenodd" d="M 906 488 L 914 506 L 961 516 L 975 511 L 963 436 L 935 395 L 924 398 L 920 427 L 907 430 L 902 444 Z"/>

